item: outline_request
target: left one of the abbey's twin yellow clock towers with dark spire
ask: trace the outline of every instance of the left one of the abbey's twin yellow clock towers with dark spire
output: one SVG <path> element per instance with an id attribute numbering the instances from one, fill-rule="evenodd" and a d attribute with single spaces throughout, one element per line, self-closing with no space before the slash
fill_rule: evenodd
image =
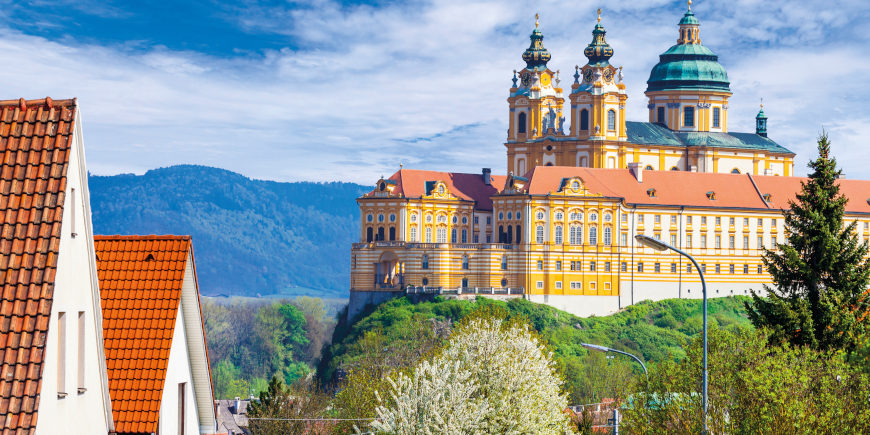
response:
<path id="1" fill-rule="evenodd" d="M 533 156 L 530 152 L 512 156 L 512 144 L 565 135 L 562 116 L 565 99 L 559 87 L 559 71 L 552 71 L 547 66 L 551 55 L 544 48 L 544 35 L 538 28 L 538 19 L 535 14 L 535 29 L 529 36 L 531 44 L 522 56 L 526 66 L 514 71 L 508 97 L 510 118 L 505 145 L 508 147 L 508 170 L 515 174 L 524 174 L 532 168 L 530 163 L 547 159 L 543 155 Z"/>

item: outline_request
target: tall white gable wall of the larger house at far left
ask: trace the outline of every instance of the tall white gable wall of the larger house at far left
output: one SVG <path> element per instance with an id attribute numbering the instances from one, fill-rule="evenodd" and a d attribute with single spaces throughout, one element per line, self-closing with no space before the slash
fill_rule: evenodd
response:
<path id="1" fill-rule="evenodd" d="M 45 344 L 37 434 L 105 434 L 113 430 L 106 379 L 102 311 L 96 275 L 87 172 L 76 114 L 67 172 L 54 301 Z M 73 194 L 73 190 L 75 193 Z M 75 227 L 73 227 L 75 225 Z M 72 237 L 73 230 L 77 233 Z M 78 314 L 84 312 L 84 391 L 78 392 Z M 58 313 L 66 313 L 66 397 L 58 397 Z"/>

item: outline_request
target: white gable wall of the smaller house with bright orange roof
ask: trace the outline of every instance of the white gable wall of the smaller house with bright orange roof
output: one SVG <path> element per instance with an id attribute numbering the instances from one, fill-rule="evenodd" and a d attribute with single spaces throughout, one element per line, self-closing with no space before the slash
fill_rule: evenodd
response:
<path id="1" fill-rule="evenodd" d="M 196 398 L 193 394 L 193 377 L 187 352 L 187 334 L 184 330 L 182 304 L 178 304 L 175 317 L 175 330 L 172 333 L 172 347 L 169 349 L 169 363 L 166 366 L 166 380 L 163 383 L 163 396 L 160 399 L 161 435 L 178 434 L 178 384 L 186 382 L 184 433 L 199 433 L 199 417 L 196 412 Z"/>

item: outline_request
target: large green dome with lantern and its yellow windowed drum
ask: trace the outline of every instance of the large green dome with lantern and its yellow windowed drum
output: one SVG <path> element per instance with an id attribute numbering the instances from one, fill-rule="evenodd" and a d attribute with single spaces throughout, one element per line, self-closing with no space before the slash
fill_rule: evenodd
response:
<path id="1" fill-rule="evenodd" d="M 659 56 L 647 80 L 649 120 L 671 130 L 727 132 L 728 73 L 719 56 L 701 45 L 691 0 L 679 29 L 677 45 Z"/>

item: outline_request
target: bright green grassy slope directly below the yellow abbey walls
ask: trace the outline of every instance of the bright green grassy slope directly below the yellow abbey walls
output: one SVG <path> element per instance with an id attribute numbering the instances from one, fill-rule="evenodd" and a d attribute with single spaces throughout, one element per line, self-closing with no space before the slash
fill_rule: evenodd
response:
<path id="1" fill-rule="evenodd" d="M 749 326 L 743 307 L 743 302 L 748 300 L 744 296 L 710 299 L 710 323 L 716 323 L 719 327 Z M 557 360 L 562 362 L 586 355 L 586 350 L 580 346 L 583 342 L 635 353 L 645 361 L 682 358 L 685 355 L 682 345 L 699 334 L 702 328 L 701 301 L 693 299 L 646 301 L 610 316 L 579 318 L 522 299 L 509 302 L 436 299 L 413 304 L 400 298 L 378 306 L 350 327 L 340 325 L 328 351 L 331 360 L 328 365 L 321 366 L 322 370 L 326 370 L 322 376 L 329 377 L 337 367 L 354 361 L 358 355 L 354 354 L 352 344 L 367 331 L 380 331 L 392 343 L 391 346 L 413 346 L 406 334 L 406 331 L 413 329 L 412 322 L 433 318 L 455 321 L 486 304 L 504 307 L 511 315 L 529 319 L 550 343 Z"/>

